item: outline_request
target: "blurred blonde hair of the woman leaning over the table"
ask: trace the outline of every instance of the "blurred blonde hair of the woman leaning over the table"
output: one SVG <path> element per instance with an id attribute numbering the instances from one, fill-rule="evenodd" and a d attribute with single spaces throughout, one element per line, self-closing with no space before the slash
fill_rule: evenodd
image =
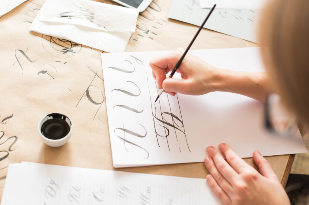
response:
<path id="1" fill-rule="evenodd" d="M 309 0 L 270 1 L 258 36 L 276 91 L 309 127 Z"/>

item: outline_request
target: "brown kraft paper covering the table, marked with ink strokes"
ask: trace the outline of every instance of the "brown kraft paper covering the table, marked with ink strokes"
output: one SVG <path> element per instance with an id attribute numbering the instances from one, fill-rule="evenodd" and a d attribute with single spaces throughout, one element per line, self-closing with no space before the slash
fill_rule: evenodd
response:
<path id="1" fill-rule="evenodd" d="M 137 30 L 126 52 L 174 50 L 188 45 L 198 27 L 168 19 L 171 1 L 154 0 L 139 15 Z M 28 0 L 0 18 L 0 137 L 4 132 L 0 138 L 0 159 L 4 158 L 0 161 L 0 198 L 7 166 L 21 161 L 204 178 L 208 172 L 203 163 L 112 167 L 102 51 L 29 32 L 30 23 L 43 2 Z M 251 46 L 257 45 L 203 29 L 192 49 Z M 42 70 L 47 73 L 38 74 Z M 91 99 L 86 95 L 87 89 Z M 37 130 L 40 118 L 51 112 L 67 115 L 74 125 L 70 141 L 62 147 L 45 145 Z M 289 155 L 267 157 L 279 179 L 283 177 L 288 158 Z M 252 159 L 245 161 L 254 164 Z"/>

